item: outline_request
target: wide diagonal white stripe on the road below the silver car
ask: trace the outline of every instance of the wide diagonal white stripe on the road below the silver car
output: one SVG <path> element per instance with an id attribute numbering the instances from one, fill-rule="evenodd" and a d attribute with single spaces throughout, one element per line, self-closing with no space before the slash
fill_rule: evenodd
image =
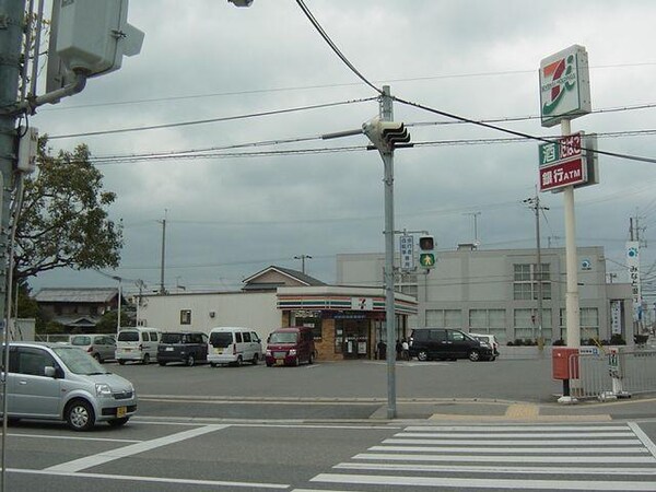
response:
<path id="1" fill-rule="evenodd" d="M 52 467 L 45 468 L 44 471 L 72 473 L 84 470 L 86 468 L 104 465 L 108 461 L 114 461 L 115 459 L 126 458 L 128 456 L 144 453 L 151 449 L 155 449 L 157 447 L 166 446 L 168 444 L 179 443 L 180 441 L 197 437 L 202 434 L 220 431 L 229 426 L 230 425 L 203 425 L 198 429 L 178 432 L 176 434 L 159 437 L 156 440 L 143 441 L 141 443 L 119 447 L 118 449 L 110 449 L 107 452 L 98 453 L 97 455 L 85 456 L 84 458 L 74 459 L 72 461 L 63 462 L 61 465 L 55 465 Z"/>

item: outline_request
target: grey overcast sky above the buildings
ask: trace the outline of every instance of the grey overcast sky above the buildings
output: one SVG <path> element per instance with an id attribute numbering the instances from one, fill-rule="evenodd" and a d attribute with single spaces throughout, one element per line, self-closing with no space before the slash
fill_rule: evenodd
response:
<path id="1" fill-rule="evenodd" d="M 601 150 L 656 157 L 656 136 L 645 132 L 656 130 L 656 2 L 306 4 L 375 85 L 470 119 L 519 118 L 497 125 L 535 136 L 560 133 L 537 118 L 540 60 L 582 45 L 589 55 L 594 113 L 573 120 L 573 131 L 600 133 Z M 164 218 L 165 284 L 173 292 L 176 285 L 236 290 L 269 265 L 300 270 L 294 257 L 301 255 L 312 256 L 308 274 L 333 282 L 337 254 L 384 250 L 383 163 L 365 150 L 364 136 L 255 145 L 356 129 L 378 113 L 377 94 L 330 50 L 295 1 L 255 0 L 238 9 L 225 0 L 131 0 L 129 22 L 145 33 L 140 55 L 31 119 L 51 136 L 55 150 L 86 143 L 99 160 L 105 188 L 117 194 L 109 214 L 122 220 L 125 247 L 120 268 L 107 273 L 125 278 L 128 289 L 137 279 L 157 289 Z M 332 103 L 348 104 L 71 137 Z M 611 112 L 618 108 L 623 110 Z M 394 113 L 413 142 L 434 142 L 396 152 L 397 230 L 427 230 L 440 250 L 453 250 L 476 239 L 476 220 L 481 248 L 535 247 L 535 215 L 523 200 L 536 192 L 538 143 L 490 142 L 509 136 L 399 103 Z M 208 151 L 202 159 L 102 160 L 236 144 L 248 145 L 221 151 L 233 154 L 221 157 Z M 244 156 L 263 151 L 279 154 Z M 656 259 L 656 164 L 601 156 L 599 168 L 600 184 L 575 192 L 577 245 L 604 246 L 608 271 L 625 281 L 630 216 L 645 227 L 643 271 Z M 540 200 L 550 209 L 541 222 L 542 245 L 564 247 L 562 195 L 541 194 Z M 115 284 L 96 272 L 31 280 L 35 290 Z"/>

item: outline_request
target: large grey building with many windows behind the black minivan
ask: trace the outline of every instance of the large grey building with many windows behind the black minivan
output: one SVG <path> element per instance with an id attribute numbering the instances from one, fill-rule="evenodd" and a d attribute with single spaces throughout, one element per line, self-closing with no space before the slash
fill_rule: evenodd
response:
<path id="1" fill-rule="evenodd" d="M 633 342 L 632 295 L 628 283 L 607 283 L 604 248 L 579 247 L 581 337 Z M 535 249 L 478 249 L 461 245 L 437 255 L 435 268 L 397 277 L 396 289 L 418 300 L 412 327 L 449 327 L 495 335 L 502 343 L 547 343 L 566 336 L 564 248 L 541 249 L 542 327 L 537 326 L 538 273 Z M 383 254 L 337 256 L 340 285 L 383 285 Z"/>

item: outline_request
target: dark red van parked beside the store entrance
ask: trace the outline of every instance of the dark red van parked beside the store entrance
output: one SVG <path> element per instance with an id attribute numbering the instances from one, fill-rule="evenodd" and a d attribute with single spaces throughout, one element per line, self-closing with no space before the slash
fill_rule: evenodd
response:
<path id="1" fill-rule="evenodd" d="M 312 328 L 301 326 L 278 328 L 269 335 L 265 359 L 267 366 L 314 364 L 317 352 Z"/>

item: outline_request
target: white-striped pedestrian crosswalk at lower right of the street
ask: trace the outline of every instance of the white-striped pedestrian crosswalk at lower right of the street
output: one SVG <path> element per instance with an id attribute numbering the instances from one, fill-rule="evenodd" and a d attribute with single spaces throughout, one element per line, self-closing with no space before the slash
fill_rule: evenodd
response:
<path id="1" fill-rule="evenodd" d="M 432 425 L 401 432 L 319 473 L 316 491 L 656 491 L 656 445 L 632 422 Z"/>

